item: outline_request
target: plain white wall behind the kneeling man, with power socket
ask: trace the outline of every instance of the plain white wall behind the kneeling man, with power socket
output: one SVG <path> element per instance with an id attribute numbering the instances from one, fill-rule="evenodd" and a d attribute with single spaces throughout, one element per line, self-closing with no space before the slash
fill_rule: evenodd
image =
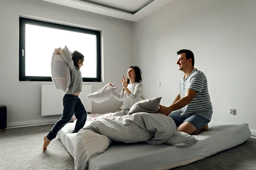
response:
<path id="1" fill-rule="evenodd" d="M 176 52 L 190 49 L 208 79 L 212 120 L 245 122 L 256 130 L 255 7 L 256 0 L 174 0 L 148 22 L 151 15 L 134 23 L 132 61 L 143 71 L 144 98 L 173 102 L 182 74 Z"/>

